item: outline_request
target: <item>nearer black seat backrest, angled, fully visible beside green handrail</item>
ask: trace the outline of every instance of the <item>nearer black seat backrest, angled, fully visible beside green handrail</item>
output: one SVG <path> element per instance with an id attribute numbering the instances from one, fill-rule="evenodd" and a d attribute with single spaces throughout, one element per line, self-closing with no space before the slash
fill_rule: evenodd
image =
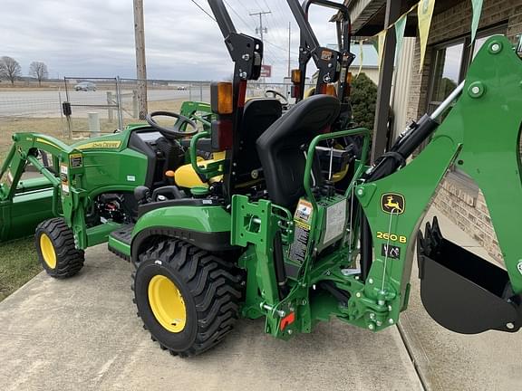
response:
<path id="1" fill-rule="evenodd" d="M 296 104 L 257 139 L 266 189 L 275 204 L 291 207 L 304 195 L 306 158 L 301 147 L 332 125 L 339 110 L 337 98 L 315 95 Z"/>

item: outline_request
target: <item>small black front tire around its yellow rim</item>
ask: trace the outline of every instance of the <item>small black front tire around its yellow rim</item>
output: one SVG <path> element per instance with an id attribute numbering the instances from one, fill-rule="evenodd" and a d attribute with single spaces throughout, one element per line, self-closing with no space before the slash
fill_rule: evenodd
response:
<path id="1" fill-rule="evenodd" d="M 42 234 L 46 234 L 51 239 L 51 243 L 53 243 L 56 255 L 56 266 L 54 268 L 51 268 L 43 260 L 42 249 L 40 248 L 40 237 Z M 74 245 L 73 231 L 63 218 L 56 217 L 38 224 L 34 234 L 34 243 L 38 259 L 42 263 L 45 272 L 51 277 L 59 279 L 72 277 L 82 270 L 83 262 L 85 262 L 85 253 L 83 250 L 78 250 Z"/>

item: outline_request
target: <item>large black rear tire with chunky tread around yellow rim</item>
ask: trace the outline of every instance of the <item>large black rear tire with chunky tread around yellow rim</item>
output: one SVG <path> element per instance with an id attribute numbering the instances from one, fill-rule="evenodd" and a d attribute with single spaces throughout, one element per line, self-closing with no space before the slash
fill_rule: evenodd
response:
<path id="1" fill-rule="evenodd" d="M 242 299 L 242 277 L 232 262 L 175 239 L 165 240 L 141 254 L 133 274 L 134 302 L 143 328 L 160 348 L 187 358 L 216 346 L 233 329 Z M 149 304 L 149 282 L 168 277 L 179 289 L 186 307 L 184 329 L 163 328 Z"/>

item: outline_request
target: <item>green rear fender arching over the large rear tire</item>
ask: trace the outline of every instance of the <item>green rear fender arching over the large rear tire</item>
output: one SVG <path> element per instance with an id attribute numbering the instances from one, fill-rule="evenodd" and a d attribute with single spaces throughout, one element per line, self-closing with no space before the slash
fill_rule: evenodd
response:
<path id="1" fill-rule="evenodd" d="M 221 205 L 166 206 L 141 215 L 132 231 L 133 260 L 148 247 L 150 239 L 167 236 L 210 252 L 228 251 L 231 216 Z"/>

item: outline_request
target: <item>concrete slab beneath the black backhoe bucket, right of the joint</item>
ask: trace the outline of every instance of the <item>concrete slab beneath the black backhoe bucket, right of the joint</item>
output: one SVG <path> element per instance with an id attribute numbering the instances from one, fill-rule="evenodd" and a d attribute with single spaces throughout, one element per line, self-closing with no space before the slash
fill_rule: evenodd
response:
<path id="1" fill-rule="evenodd" d="M 425 220 L 430 221 L 433 215 L 439 217 L 445 238 L 494 262 L 476 241 L 436 209 L 432 208 Z M 426 388 L 434 391 L 521 390 L 522 332 L 462 335 L 444 329 L 424 310 L 417 276 L 417 262 L 414 262 L 410 305 L 401 315 L 400 327 Z"/>

